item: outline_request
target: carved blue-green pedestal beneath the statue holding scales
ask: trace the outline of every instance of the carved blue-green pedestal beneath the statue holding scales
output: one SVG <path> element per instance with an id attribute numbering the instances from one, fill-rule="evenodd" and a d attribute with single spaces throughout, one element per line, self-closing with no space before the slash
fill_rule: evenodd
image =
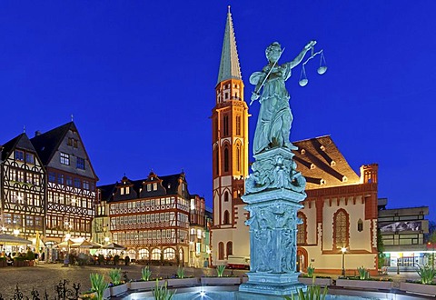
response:
<path id="1" fill-rule="evenodd" d="M 292 148 L 295 148 L 292 145 Z M 250 212 L 250 272 L 240 292 L 291 295 L 306 285 L 296 272 L 297 211 L 306 194 L 306 181 L 297 172 L 287 147 L 254 155 L 253 174 L 246 180 L 243 201 Z"/>

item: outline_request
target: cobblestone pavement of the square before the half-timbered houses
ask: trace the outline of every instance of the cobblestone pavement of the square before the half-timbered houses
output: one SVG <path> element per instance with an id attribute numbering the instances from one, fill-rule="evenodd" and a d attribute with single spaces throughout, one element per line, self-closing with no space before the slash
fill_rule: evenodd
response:
<path id="1" fill-rule="evenodd" d="M 140 279 L 141 268 L 144 265 L 120 265 L 123 271 L 127 272 L 129 279 Z M 39 264 L 27 267 L 2 267 L 0 268 L 0 294 L 5 300 L 14 298 L 15 286 L 18 285 L 23 295 L 31 297 L 31 291 L 35 288 L 39 295 L 45 294 L 45 290 L 50 299 L 54 298 L 54 285 L 58 285 L 64 279 L 68 280 L 69 287 L 73 284 L 80 284 L 80 292 L 90 290 L 91 283 L 89 275 L 91 273 L 99 273 L 106 275 L 106 280 L 109 281 L 107 273 L 114 265 L 86 265 L 76 266 L 70 265 L 63 267 L 62 264 Z M 152 277 L 168 278 L 173 276 L 177 267 L 175 266 L 154 266 L 151 267 Z M 185 267 L 184 274 L 187 276 L 202 276 L 214 275 L 215 270 L 211 268 L 190 268 Z M 234 270 L 234 275 L 243 275 L 246 271 Z M 232 270 L 225 270 L 224 275 L 230 275 Z"/>

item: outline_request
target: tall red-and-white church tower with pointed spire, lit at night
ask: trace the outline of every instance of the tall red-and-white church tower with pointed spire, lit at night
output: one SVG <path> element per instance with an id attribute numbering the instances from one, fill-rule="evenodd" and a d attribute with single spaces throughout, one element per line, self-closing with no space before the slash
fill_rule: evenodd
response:
<path id="1" fill-rule="evenodd" d="M 241 195 L 248 176 L 248 106 L 243 100 L 230 6 L 227 13 L 215 107 L 212 111 L 213 230 L 212 264 L 230 256 L 249 256 L 247 212 Z M 241 229 L 239 227 L 246 229 Z M 238 228 L 238 229 L 237 229 Z"/>

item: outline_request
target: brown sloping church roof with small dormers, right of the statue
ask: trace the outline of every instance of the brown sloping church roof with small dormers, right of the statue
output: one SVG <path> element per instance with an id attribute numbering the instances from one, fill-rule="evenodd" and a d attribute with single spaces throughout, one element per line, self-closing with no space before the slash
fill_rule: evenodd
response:
<path id="1" fill-rule="evenodd" d="M 306 178 L 306 189 L 338 185 L 357 185 L 360 177 L 333 143 L 330 135 L 293 142 L 298 150 L 292 151 L 297 170 Z"/>

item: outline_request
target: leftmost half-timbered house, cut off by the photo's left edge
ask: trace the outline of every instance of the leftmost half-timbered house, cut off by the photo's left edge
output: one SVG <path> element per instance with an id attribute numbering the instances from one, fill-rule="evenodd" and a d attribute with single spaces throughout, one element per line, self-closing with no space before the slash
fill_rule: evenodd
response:
<path id="1" fill-rule="evenodd" d="M 27 135 L 0 147 L 2 232 L 33 239 L 45 234 L 45 167 Z"/>

